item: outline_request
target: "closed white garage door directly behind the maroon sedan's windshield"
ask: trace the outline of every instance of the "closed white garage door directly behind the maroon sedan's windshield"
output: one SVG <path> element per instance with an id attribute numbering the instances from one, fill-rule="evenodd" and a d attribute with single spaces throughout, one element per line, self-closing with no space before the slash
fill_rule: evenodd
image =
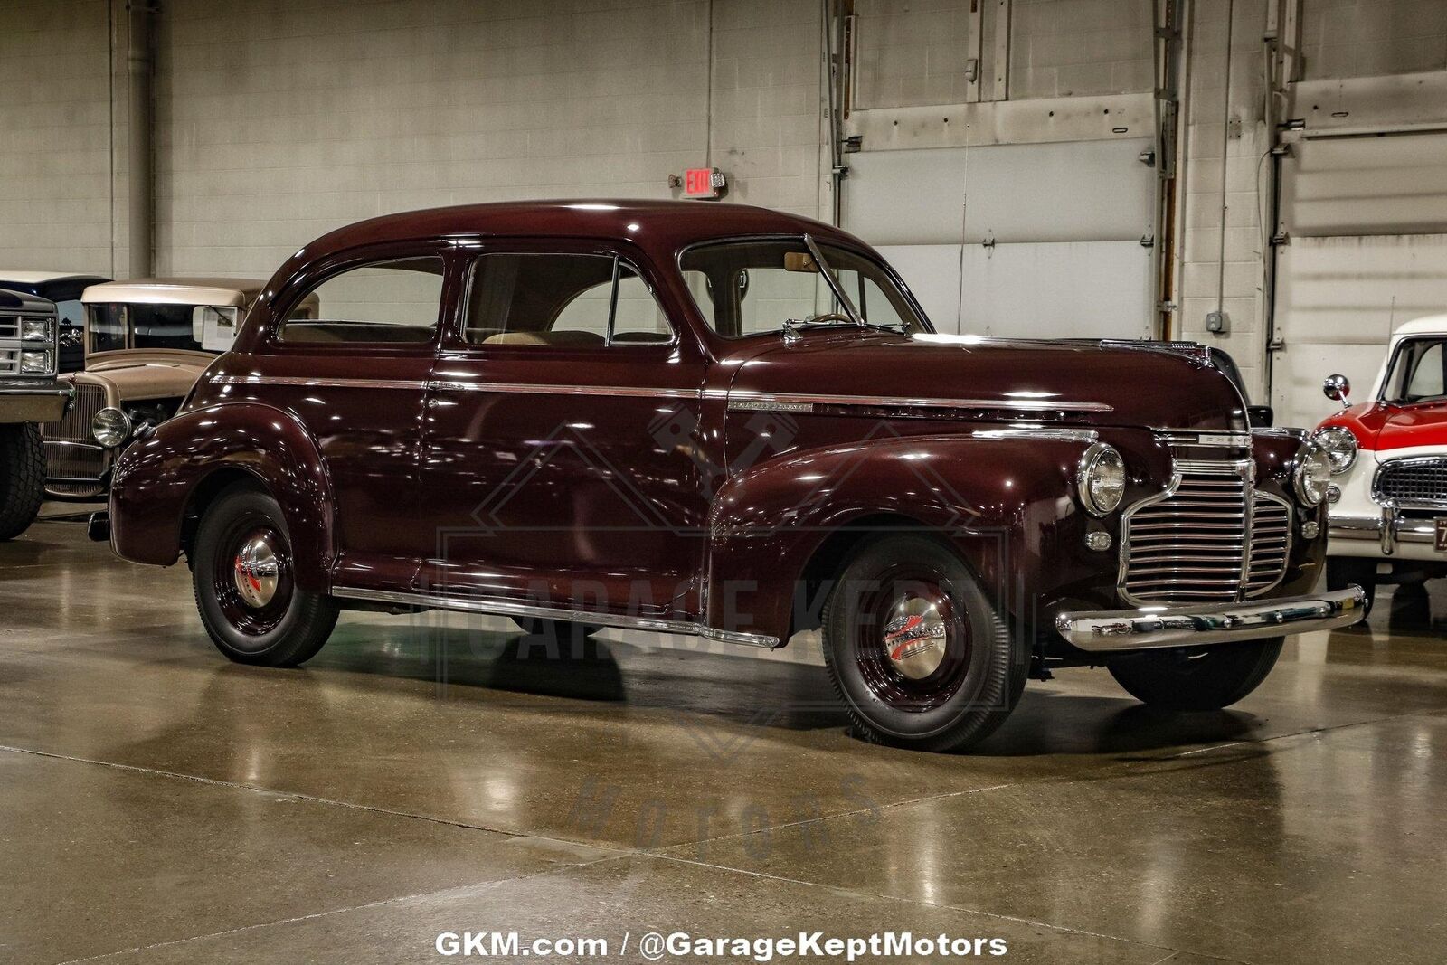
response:
<path id="1" fill-rule="evenodd" d="M 941 331 L 1150 336 L 1150 140 L 849 155 L 845 227 L 880 247 Z"/>

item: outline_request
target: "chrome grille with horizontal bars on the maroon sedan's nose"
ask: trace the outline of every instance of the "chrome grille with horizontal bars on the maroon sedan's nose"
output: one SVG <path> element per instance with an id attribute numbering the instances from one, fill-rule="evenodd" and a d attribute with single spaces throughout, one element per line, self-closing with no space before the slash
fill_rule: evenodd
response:
<path id="1" fill-rule="evenodd" d="M 1127 600 L 1231 602 L 1281 582 L 1291 508 L 1256 493 L 1247 469 L 1242 462 L 1176 460 L 1174 489 L 1126 512 L 1120 584 Z"/>

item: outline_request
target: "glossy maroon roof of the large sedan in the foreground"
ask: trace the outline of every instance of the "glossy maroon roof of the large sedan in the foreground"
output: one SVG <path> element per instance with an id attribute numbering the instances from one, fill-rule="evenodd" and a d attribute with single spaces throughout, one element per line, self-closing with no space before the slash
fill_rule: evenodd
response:
<path id="1" fill-rule="evenodd" d="M 627 237 L 641 245 L 680 247 L 729 236 L 805 231 L 848 237 L 822 221 L 748 204 L 618 198 L 502 201 L 383 214 L 330 231 L 297 256 L 311 259 L 328 250 L 407 237 Z"/>

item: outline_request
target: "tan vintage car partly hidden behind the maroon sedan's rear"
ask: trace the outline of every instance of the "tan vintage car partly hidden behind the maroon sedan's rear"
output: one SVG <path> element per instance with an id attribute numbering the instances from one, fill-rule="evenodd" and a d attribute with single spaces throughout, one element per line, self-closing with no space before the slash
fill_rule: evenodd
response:
<path id="1" fill-rule="evenodd" d="M 75 402 L 42 427 L 51 499 L 101 499 L 110 464 L 137 430 L 169 418 L 232 344 L 260 292 L 253 279 L 152 278 L 88 286 L 85 365 Z"/>

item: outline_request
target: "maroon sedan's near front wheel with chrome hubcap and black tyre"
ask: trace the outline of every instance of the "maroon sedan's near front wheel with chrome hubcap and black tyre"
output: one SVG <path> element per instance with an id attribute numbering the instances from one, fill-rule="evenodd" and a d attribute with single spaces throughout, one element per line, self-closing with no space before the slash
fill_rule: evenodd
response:
<path id="1" fill-rule="evenodd" d="M 1029 661 L 965 563 L 917 535 L 849 556 L 825 606 L 823 657 L 862 736 L 922 751 L 961 749 L 1000 726 Z"/>

